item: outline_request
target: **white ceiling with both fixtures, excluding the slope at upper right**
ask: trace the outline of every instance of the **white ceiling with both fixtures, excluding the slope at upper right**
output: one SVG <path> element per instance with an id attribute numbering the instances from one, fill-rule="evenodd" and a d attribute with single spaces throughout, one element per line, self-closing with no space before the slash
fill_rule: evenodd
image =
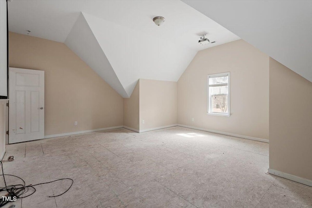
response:
<path id="1" fill-rule="evenodd" d="M 198 50 L 239 39 L 178 0 L 13 0 L 8 7 L 10 31 L 65 42 L 123 97 L 139 78 L 177 81 Z M 156 26 L 155 16 L 166 21 Z M 199 45 L 203 33 L 216 43 Z"/>

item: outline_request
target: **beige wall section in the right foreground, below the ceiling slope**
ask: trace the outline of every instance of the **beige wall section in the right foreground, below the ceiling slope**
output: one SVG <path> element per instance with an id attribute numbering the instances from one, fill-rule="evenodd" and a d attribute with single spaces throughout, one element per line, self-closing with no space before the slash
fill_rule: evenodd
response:
<path id="1" fill-rule="evenodd" d="M 312 180 L 312 82 L 273 58 L 270 169 Z"/>

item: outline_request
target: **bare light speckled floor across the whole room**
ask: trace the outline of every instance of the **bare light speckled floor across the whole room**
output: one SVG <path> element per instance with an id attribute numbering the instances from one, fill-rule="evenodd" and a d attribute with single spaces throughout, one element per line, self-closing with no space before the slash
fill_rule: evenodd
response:
<path id="1" fill-rule="evenodd" d="M 312 189 L 265 174 L 269 144 L 181 127 L 93 132 L 8 145 L 4 173 L 37 187 L 16 208 L 305 208 Z M 3 181 L 1 180 L 1 186 Z M 7 183 L 20 183 L 7 176 Z M 8 208 L 9 206 L 6 206 Z"/>

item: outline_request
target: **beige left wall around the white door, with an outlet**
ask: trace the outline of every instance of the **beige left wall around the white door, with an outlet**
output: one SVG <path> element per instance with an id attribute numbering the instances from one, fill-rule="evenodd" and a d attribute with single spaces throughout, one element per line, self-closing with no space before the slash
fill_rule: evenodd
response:
<path id="1" fill-rule="evenodd" d="M 45 135 L 123 125 L 123 98 L 64 43 L 10 32 L 9 64 L 45 72 Z"/>

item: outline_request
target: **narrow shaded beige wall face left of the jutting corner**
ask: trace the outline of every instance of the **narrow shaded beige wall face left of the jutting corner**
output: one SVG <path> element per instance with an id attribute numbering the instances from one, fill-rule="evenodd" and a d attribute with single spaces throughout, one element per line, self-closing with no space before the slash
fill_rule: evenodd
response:
<path id="1" fill-rule="evenodd" d="M 130 98 L 123 98 L 123 125 L 139 131 L 139 87 L 140 82 L 133 90 Z"/>

